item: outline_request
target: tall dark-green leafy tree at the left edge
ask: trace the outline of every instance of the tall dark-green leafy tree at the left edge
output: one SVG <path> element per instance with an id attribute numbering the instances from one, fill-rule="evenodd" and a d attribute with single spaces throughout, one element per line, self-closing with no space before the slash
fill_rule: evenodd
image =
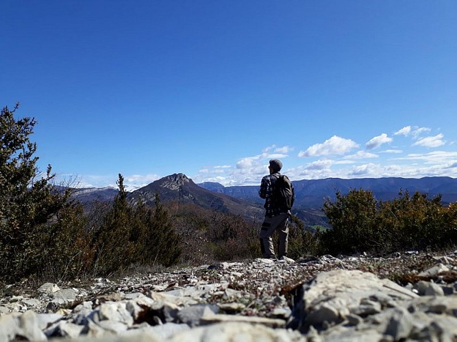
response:
<path id="1" fill-rule="evenodd" d="M 50 265 L 51 276 L 68 276 L 58 265 L 74 269 L 77 258 L 63 259 L 55 233 L 80 227 L 82 212 L 69 199 L 69 188 L 62 192 L 51 184 L 51 166 L 40 176 L 36 143 L 29 138 L 36 121 L 16 120 L 16 109 L 18 104 L 13 110 L 3 107 L 0 114 L 0 276 L 18 280 L 46 275 Z M 67 246 L 67 256 L 73 255 L 72 246 Z"/>

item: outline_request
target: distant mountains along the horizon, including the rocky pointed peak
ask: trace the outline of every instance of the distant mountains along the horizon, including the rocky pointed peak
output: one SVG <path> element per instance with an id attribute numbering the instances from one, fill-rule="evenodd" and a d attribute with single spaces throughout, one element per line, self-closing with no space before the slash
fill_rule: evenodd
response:
<path id="1" fill-rule="evenodd" d="M 365 189 L 373 192 L 378 200 L 392 200 L 403 190 L 414 194 L 421 192 L 429 198 L 441 194 L 444 205 L 457 201 L 457 179 L 450 177 L 425 177 L 421 179 L 380 178 L 380 179 L 316 179 L 293 181 L 295 205 L 293 212 L 307 226 L 328 226 L 321 208 L 326 199 L 334 200 L 336 192 L 347 194 L 351 189 Z M 196 184 L 185 174 L 171 174 L 145 187 L 129 193 L 132 202 L 143 200 L 153 205 L 156 194 L 163 203 L 191 203 L 199 207 L 234 213 L 245 218 L 261 218 L 264 215 L 264 200 L 258 196 L 260 186 L 225 187 L 219 183 Z M 76 189 L 75 198 L 85 205 L 93 200 L 109 201 L 118 190 L 108 188 Z"/>

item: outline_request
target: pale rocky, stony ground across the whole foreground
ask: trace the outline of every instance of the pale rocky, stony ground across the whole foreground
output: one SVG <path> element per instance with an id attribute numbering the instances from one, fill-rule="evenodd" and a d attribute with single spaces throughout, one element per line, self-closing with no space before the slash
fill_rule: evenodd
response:
<path id="1" fill-rule="evenodd" d="M 456 253 L 255 259 L 8 285 L 0 341 L 456 341 Z"/>

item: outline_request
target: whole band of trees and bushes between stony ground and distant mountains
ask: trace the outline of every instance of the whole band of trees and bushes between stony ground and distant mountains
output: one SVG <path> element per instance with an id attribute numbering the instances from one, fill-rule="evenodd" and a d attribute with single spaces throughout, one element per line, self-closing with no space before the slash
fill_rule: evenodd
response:
<path id="1" fill-rule="evenodd" d="M 0 278 L 5 282 L 72 280 L 128 269 L 212 263 L 260 257 L 261 222 L 240 215 L 171 202 L 156 194 L 153 205 L 129 202 L 119 174 L 114 202 L 95 202 L 87 213 L 72 189 L 54 184 L 51 166 L 42 174 L 36 121 L 0 116 Z M 454 246 L 457 205 L 441 198 L 399 193 L 380 202 L 364 189 L 325 202 L 332 229 L 310 233 L 293 217 L 289 257 L 316 254 L 387 253 Z M 134 268 L 132 268 L 134 267 Z"/>

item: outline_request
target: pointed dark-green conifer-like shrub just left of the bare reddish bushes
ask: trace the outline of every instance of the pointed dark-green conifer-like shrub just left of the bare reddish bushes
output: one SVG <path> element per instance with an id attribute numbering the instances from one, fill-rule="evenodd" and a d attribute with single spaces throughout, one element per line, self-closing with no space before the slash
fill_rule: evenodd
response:
<path id="1" fill-rule="evenodd" d="M 130 204 L 121 174 L 117 184 L 119 194 L 93 235 L 95 274 L 109 275 L 132 264 L 171 266 L 180 261 L 180 236 L 158 194 L 155 209 L 143 202 Z"/>

